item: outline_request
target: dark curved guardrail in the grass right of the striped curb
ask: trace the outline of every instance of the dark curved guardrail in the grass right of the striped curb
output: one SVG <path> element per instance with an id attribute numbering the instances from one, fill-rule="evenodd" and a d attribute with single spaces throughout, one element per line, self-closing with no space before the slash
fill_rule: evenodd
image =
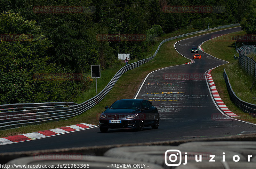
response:
<path id="1" fill-rule="evenodd" d="M 231 87 L 231 84 L 229 82 L 228 75 L 225 71 L 225 68 L 224 68 L 224 72 L 223 72 L 223 77 L 225 79 L 227 89 L 228 89 L 228 93 L 229 93 L 229 96 L 230 96 L 231 100 L 236 104 L 236 106 L 238 106 L 244 112 L 247 112 L 247 113 L 255 116 L 256 115 L 256 104 L 245 102 L 245 101 L 239 99 L 236 96 L 236 94 L 232 90 L 232 87 Z"/>

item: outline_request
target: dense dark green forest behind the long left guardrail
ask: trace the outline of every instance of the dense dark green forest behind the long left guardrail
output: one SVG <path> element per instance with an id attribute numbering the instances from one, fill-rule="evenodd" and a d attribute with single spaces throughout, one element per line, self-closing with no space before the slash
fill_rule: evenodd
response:
<path id="1" fill-rule="evenodd" d="M 250 0 L 1 0 L 0 104 L 73 102 L 92 83 L 90 65 L 111 69 L 120 65 L 118 53 L 142 60 L 163 33 L 239 22 L 256 33 L 255 5 Z M 203 7 L 210 10 L 195 11 Z M 99 39 L 109 34 L 145 37 Z M 83 76 L 36 79 L 40 74 Z"/>

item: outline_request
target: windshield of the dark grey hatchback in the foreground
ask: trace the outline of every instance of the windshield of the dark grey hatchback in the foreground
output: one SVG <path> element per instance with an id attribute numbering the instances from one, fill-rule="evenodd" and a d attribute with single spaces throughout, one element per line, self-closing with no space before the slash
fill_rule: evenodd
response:
<path id="1" fill-rule="evenodd" d="M 139 109 L 140 101 L 138 100 L 119 100 L 114 102 L 110 109 Z"/>

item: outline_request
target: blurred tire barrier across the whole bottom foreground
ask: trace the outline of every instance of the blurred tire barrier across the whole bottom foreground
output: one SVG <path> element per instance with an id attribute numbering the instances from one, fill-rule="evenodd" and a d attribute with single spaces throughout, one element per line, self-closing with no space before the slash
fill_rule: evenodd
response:
<path id="1" fill-rule="evenodd" d="M 73 147 L 73 148 L 63 148 L 63 149 L 49 149 L 49 150 L 38 150 L 38 151 L 22 151 L 22 152 L 5 152 L 0 153 L 0 166 L 4 164 L 20 165 L 28 164 L 34 158 L 34 162 L 37 161 L 46 162 L 46 160 L 51 159 L 50 162 L 56 163 L 55 160 L 60 160 L 58 158 L 66 158 L 66 164 L 68 160 L 76 160 L 77 158 L 86 161 L 90 159 L 92 166 L 97 161 L 101 164 L 106 164 L 106 159 L 108 162 L 113 162 L 113 164 L 122 164 L 123 160 L 126 163 L 131 164 L 155 164 L 160 165 L 163 168 L 169 168 L 165 165 L 165 151 L 173 149 L 180 150 L 181 152 L 187 152 L 188 166 L 193 166 L 193 160 L 195 161 L 195 155 L 202 155 L 201 168 L 209 168 L 213 165 L 217 167 L 220 160 L 223 159 L 223 152 L 225 152 L 225 159 L 228 165 L 233 162 L 235 155 L 240 157 L 239 162 L 236 162 L 237 166 L 243 164 L 243 168 L 251 168 L 253 164 L 255 168 L 256 163 L 256 135 L 255 134 L 244 134 L 226 137 L 210 137 L 210 138 L 193 138 L 184 140 L 171 140 L 171 141 L 159 141 L 159 142 L 148 142 L 148 143 L 131 143 L 131 144 L 115 144 L 115 145 L 104 145 L 104 146 L 91 146 L 91 147 Z M 114 152 L 114 150 L 117 150 Z M 122 150 L 122 151 L 119 151 Z M 206 151 L 207 150 L 207 151 Z M 199 154 L 201 153 L 201 154 Z M 104 158 L 100 158 L 104 156 Z M 54 156 L 55 155 L 55 156 Z M 68 157 L 66 156 L 68 155 Z M 209 155 L 216 155 L 215 162 L 209 162 Z M 217 156 L 220 155 L 220 156 Z M 247 156 L 252 155 L 251 162 L 247 162 Z M 84 158 L 85 156 L 85 158 Z M 23 158 L 30 157 L 30 158 Z M 94 158 L 92 158 L 94 157 Z M 184 157 L 184 153 L 182 154 Z M 136 160 L 132 160 L 135 159 Z M 20 160 L 22 159 L 22 160 Z M 113 160 L 114 159 L 114 160 Z M 182 159 L 184 162 L 184 159 Z M 62 162 L 62 161 L 61 161 Z M 71 162 L 72 163 L 72 162 Z M 70 163 L 70 164 L 71 164 Z M 169 162 L 168 162 L 169 163 Z M 31 164 L 31 163 L 29 163 Z M 61 163 L 59 163 L 61 164 Z M 153 165 L 152 165 L 153 166 Z M 186 165 L 182 165 L 186 166 Z M 180 167 L 182 167 L 180 166 Z M 104 168 L 104 166 L 100 166 Z M 98 167 L 98 168 L 100 168 Z M 160 168 L 161 168 L 160 167 Z M 11 168 L 11 167 L 9 167 Z M 13 167 L 14 168 L 14 167 Z M 28 168 L 28 167 L 27 167 Z M 78 167 L 76 167 L 78 168 Z M 97 167 L 90 167 L 97 168 Z M 108 167 L 110 168 L 110 167 Z M 114 168 L 114 167 L 112 167 Z M 147 167 L 145 167 L 147 168 Z M 189 168 L 189 167 L 188 167 Z M 193 167 L 190 167 L 193 168 Z M 230 167 L 233 168 L 233 167 Z M 236 167 L 234 167 L 236 168 Z M 239 168 L 239 167 L 237 167 Z M 242 167 L 240 167 L 242 168 Z"/>

